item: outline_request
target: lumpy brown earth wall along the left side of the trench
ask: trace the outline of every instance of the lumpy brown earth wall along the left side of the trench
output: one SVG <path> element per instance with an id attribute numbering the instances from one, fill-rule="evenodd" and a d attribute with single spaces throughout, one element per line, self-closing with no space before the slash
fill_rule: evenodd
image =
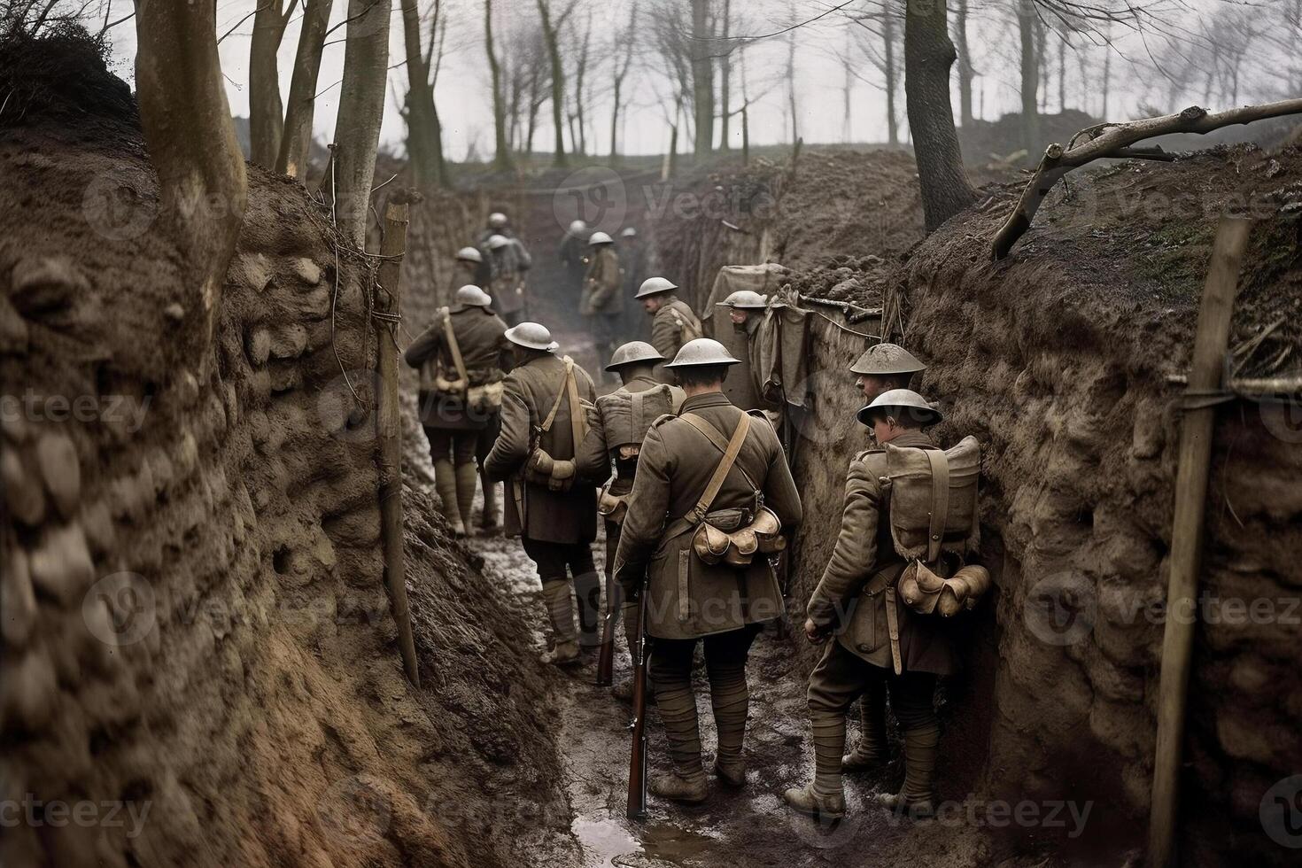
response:
<path id="1" fill-rule="evenodd" d="M 82 141 L 68 117 L 0 129 L 0 755 L 25 817 L 0 858 L 513 861 L 497 806 L 564 806 L 548 675 L 408 491 L 424 690 L 405 681 L 371 263 L 299 185 L 250 167 L 208 344 L 139 131 Z"/>

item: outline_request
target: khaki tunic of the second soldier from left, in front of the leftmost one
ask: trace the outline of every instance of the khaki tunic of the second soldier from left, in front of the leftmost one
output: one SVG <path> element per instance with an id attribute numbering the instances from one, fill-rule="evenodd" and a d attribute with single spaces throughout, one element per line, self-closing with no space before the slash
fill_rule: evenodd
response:
<path id="1" fill-rule="evenodd" d="M 592 377 L 574 366 L 578 397 L 589 403 L 596 397 Z M 484 459 L 484 472 L 492 480 L 505 479 L 506 534 L 523 535 L 543 543 L 591 543 L 596 539 L 596 489 L 577 480 L 568 492 L 553 492 L 522 479 L 525 462 L 531 452 L 530 435 L 542 427 L 565 388 L 565 364 L 555 355 L 529 359 L 506 376 L 506 393 L 501 402 L 501 433 Z M 557 461 L 574 458 L 575 444 L 570 428 L 569 401 L 561 398 L 551 429 L 538 445 Z M 521 509 L 517 509 L 517 495 Z M 521 515 L 521 510 L 523 515 Z"/>

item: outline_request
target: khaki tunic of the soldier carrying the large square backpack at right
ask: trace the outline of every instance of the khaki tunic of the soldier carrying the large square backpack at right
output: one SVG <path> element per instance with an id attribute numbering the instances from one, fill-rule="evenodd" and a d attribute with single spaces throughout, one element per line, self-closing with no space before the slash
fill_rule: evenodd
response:
<path id="1" fill-rule="evenodd" d="M 931 437 L 921 432 L 904 433 L 891 442 L 937 449 Z M 885 593 L 867 592 L 874 575 L 884 573 L 894 578 L 905 565 L 891 540 L 891 501 L 883 496 L 879 483 L 885 472 L 885 450 L 868 449 L 850 461 L 841 534 L 823 579 L 810 597 L 807 614 L 820 627 L 837 627 L 837 640 L 846 651 L 892 669 Z M 917 614 L 898 603 L 896 608 L 904 671 L 952 673 L 952 625 L 937 616 Z"/>

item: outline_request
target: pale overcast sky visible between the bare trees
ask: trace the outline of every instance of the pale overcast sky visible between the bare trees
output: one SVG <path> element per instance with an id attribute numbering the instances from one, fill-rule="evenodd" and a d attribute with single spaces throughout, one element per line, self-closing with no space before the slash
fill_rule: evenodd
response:
<path id="1" fill-rule="evenodd" d="M 266 0 L 264 0 L 266 1 Z M 650 3 L 671 3 L 674 0 L 650 0 Z M 676 0 L 684 3 L 685 0 Z M 1124 120 L 1133 117 L 1141 104 L 1152 105 L 1160 111 L 1170 111 L 1180 105 L 1165 104 L 1172 99 L 1186 98 L 1199 100 L 1204 87 L 1202 82 L 1202 69 L 1206 62 L 1193 62 L 1185 72 L 1177 72 L 1168 79 L 1157 75 L 1150 61 L 1150 55 L 1159 55 L 1164 49 L 1164 40 L 1159 30 L 1178 38 L 1184 42 L 1182 53 L 1194 56 L 1198 60 L 1195 46 L 1204 33 L 1223 31 L 1225 25 L 1215 14 L 1225 14 L 1226 8 L 1240 7 L 1245 10 L 1249 21 L 1264 22 L 1272 16 L 1281 14 L 1282 4 L 1288 0 L 1249 0 L 1237 3 L 1236 0 L 1137 0 L 1139 5 L 1147 5 L 1160 13 L 1161 25 L 1150 27 L 1144 34 L 1126 31 L 1124 27 L 1113 27 L 1112 38 L 1115 51 L 1112 52 L 1109 74 L 1113 82 L 1112 102 L 1109 105 L 1109 120 Z M 129 0 L 115 0 L 113 9 L 104 9 L 108 0 L 100 3 L 100 16 L 108 12 L 112 18 L 118 18 L 130 10 Z M 559 0 L 552 0 L 559 5 Z M 598 49 L 600 65 L 594 73 L 592 81 L 604 82 L 609 78 L 611 57 L 609 49 L 602 51 L 603 44 L 608 44 L 609 36 L 616 27 L 624 26 L 628 21 L 631 0 L 579 0 L 581 9 L 589 10 L 592 16 L 594 47 Z M 648 0 L 642 0 L 647 4 Z M 862 26 L 848 21 L 844 12 L 829 12 L 832 7 L 841 5 L 844 0 L 749 0 L 747 3 L 734 1 L 733 7 L 743 14 L 745 21 L 734 23 L 737 34 L 767 34 L 781 30 L 792 23 L 805 22 L 823 13 L 825 17 L 796 30 L 796 90 L 798 104 L 798 126 L 806 142 L 841 142 L 845 141 L 844 121 L 844 88 L 846 74 L 840 56 L 855 57 L 858 74 L 868 79 L 853 79 L 852 90 L 852 118 L 849 138 L 854 142 L 885 141 L 885 98 L 880 86 L 878 70 L 865 60 L 865 46 L 875 44 L 875 38 L 865 31 Z M 898 0 L 902 4 L 902 0 Z M 969 40 L 974 66 L 980 73 L 975 83 L 974 105 L 976 112 L 987 120 L 996 118 L 1001 112 L 1016 111 L 1018 105 L 1018 65 L 1017 65 L 1017 27 L 1010 9 L 1014 0 L 971 0 L 973 20 L 969 30 Z M 92 4 L 94 5 L 94 4 Z M 258 5 L 258 0 L 217 0 L 217 34 L 225 34 L 237 22 L 249 16 Z M 428 0 L 422 3 L 422 8 L 430 5 Z M 953 20 L 954 1 L 950 0 L 950 20 Z M 346 0 L 335 0 L 333 22 L 345 17 Z M 444 141 L 452 159 L 464 159 L 471 148 L 471 143 L 478 143 L 478 155 L 483 156 L 492 146 L 492 112 L 488 104 L 488 73 L 484 59 L 483 43 L 483 5 L 482 0 L 444 0 L 445 14 L 450 22 L 447 36 L 447 57 L 444 70 L 439 78 L 436 100 L 440 117 L 444 121 Z M 643 5 L 643 9 L 647 7 Z M 853 0 L 845 12 L 868 8 L 867 0 Z M 577 13 L 575 18 L 583 13 Z M 292 72 L 294 49 L 298 43 L 301 14 L 292 20 L 285 39 L 280 48 L 280 74 L 281 92 L 289 91 L 289 77 Z M 512 27 L 536 27 L 536 7 L 530 0 L 495 0 L 495 27 L 497 34 L 505 34 Z M 1255 25 L 1254 25 L 1255 26 Z M 253 29 L 250 17 L 240 25 L 234 33 L 221 43 L 221 64 L 227 75 L 227 95 L 230 102 L 230 111 L 234 115 L 245 116 L 249 112 L 247 78 L 249 78 L 249 34 Z M 855 42 L 858 33 L 858 42 Z M 393 18 L 391 29 L 391 64 L 401 64 L 402 48 L 402 20 L 400 4 L 393 3 Z M 326 48 L 322 62 L 319 90 L 320 95 L 315 115 L 315 135 L 328 141 L 333 135 L 335 113 L 337 111 L 339 85 L 344 62 L 344 30 L 340 29 L 331 35 L 332 44 Z M 1078 35 L 1073 39 L 1075 46 L 1087 46 L 1090 39 Z M 1094 36 L 1099 42 L 1099 36 Z M 133 82 L 133 62 L 135 53 L 134 21 L 118 25 L 112 31 L 113 55 L 116 72 Z M 1051 36 L 1047 55 L 1056 75 L 1057 48 L 1056 38 Z M 667 150 L 668 128 L 664 121 L 663 108 L 656 100 L 656 94 L 667 94 L 668 87 L 661 68 L 650 46 L 639 43 L 641 55 L 630 73 L 626 91 L 631 91 L 634 104 L 628 112 L 626 124 L 622 126 L 622 147 L 628 154 L 658 154 Z M 790 121 L 786 113 L 786 36 L 773 36 L 753 44 L 746 51 L 747 75 L 753 90 L 764 91 L 766 95 L 758 102 L 751 112 L 751 142 L 756 144 L 785 142 L 790 138 Z M 1083 53 L 1082 53 L 1083 52 Z M 1091 113 L 1101 109 L 1101 87 L 1099 86 L 1101 65 L 1105 48 L 1088 47 L 1085 49 L 1073 48 L 1066 55 L 1066 83 L 1069 108 L 1081 108 Z M 1249 52 L 1249 59 L 1243 61 L 1241 70 L 1240 103 L 1264 96 L 1282 96 L 1282 94 L 1268 92 L 1281 86 L 1277 75 L 1269 74 L 1272 65 L 1279 69 L 1298 64 L 1297 57 L 1282 56 L 1277 64 L 1272 64 L 1271 57 L 1279 55 L 1273 47 L 1254 44 Z M 1082 73 L 1088 77 L 1085 86 L 1081 83 Z M 1185 81 L 1189 79 L 1189 81 Z M 734 92 L 740 88 L 737 73 L 734 73 Z M 396 99 L 406 90 L 406 70 L 401 66 L 389 73 L 389 102 L 385 111 L 381 141 L 395 151 L 402 150 L 404 129 L 402 121 L 396 111 Z M 1057 83 L 1051 78 L 1048 85 L 1048 108 L 1057 111 Z M 1184 91 L 1184 92 L 1180 92 Z M 1295 94 L 1294 94 L 1295 95 Z M 736 99 L 736 96 L 734 96 Z M 599 151 L 607 152 L 609 148 L 609 99 L 602 95 L 594 99 L 598 117 L 596 135 Z M 1208 105 L 1208 108 L 1225 108 L 1225 105 Z M 539 133 L 535 139 L 535 148 L 551 147 L 552 133 L 547 122 L 548 107 L 544 105 L 540 113 Z M 957 98 L 954 99 L 957 113 Z M 906 134 L 904 118 L 904 94 L 898 95 L 898 115 L 901 120 L 901 135 Z M 734 144 L 740 146 L 740 124 L 733 126 Z"/>

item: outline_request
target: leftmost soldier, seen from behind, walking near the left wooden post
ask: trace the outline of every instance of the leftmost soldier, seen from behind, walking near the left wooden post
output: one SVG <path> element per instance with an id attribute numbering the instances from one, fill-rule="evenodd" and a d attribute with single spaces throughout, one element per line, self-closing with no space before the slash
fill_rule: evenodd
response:
<path id="1" fill-rule="evenodd" d="M 465 536 L 470 526 L 475 445 L 483 431 L 496 428 L 503 371 L 510 368 L 506 324 L 490 301 L 478 286 L 462 286 L 456 306 L 440 308 L 404 354 L 421 372 L 421 422 L 430 439 L 434 487 L 456 536 Z M 490 488 L 484 485 L 484 513 Z"/>

